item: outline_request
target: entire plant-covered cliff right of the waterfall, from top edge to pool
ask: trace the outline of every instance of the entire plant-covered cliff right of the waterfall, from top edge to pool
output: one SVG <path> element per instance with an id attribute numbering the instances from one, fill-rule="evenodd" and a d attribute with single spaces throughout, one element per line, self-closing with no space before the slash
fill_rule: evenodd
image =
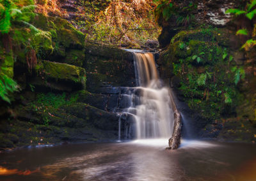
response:
<path id="1" fill-rule="evenodd" d="M 172 3 L 179 8 L 168 20 L 158 19 L 164 51 L 157 63 L 177 94 L 186 125 L 195 137 L 254 143 L 255 47 L 244 51 L 244 36 L 236 36 L 241 28 L 252 32 L 254 20 L 225 14 L 245 7 L 240 1 Z"/>

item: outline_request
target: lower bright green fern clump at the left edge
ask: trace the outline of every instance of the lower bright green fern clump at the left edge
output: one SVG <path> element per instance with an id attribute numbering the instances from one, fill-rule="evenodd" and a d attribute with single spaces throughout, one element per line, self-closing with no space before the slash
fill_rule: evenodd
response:
<path id="1" fill-rule="evenodd" d="M 19 86 L 12 78 L 7 75 L 0 74 L 0 98 L 11 103 L 10 93 L 18 91 Z"/>

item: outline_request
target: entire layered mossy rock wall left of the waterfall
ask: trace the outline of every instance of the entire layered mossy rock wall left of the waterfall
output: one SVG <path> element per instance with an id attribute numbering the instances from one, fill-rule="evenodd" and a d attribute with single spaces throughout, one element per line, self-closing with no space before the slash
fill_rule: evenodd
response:
<path id="1" fill-rule="evenodd" d="M 22 36 L 36 49 L 33 67 L 26 47 L 0 47 L 6 60 L 0 67 L 20 86 L 12 104 L 1 100 L 0 148 L 117 139 L 119 116 L 113 111 L 118 87 L 135 83 L 132 54 L 86 42 L 60 17 L 38 14 L 31 24 L 43 32 Z"/>

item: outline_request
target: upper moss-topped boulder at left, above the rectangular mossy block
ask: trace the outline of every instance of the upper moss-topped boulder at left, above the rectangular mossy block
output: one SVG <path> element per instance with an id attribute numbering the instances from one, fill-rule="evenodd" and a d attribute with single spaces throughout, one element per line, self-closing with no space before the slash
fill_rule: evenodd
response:
<path id="1" fill-rule="evenodd" d="M 36 28 L 51 33 L 53 53 L 45 56 L 51 61 L 82 67 L 84 61 L 84 34 L 67 20 L 38 14 L 32 22 Z"/>

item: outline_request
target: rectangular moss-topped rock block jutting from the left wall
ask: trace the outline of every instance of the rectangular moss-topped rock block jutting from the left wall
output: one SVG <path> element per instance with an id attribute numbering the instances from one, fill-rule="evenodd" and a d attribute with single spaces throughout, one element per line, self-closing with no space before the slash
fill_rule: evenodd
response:
<path id="1" fill-rule="evenodd" d="M 35 86 L 43 86 L 61 91 L 72 91 L 83 89 L 86 85 L 84 68 L 74 65 L 38 61 L 35 71 L 37 75 L 40 75 L 32 79 L 31 84 Z"/>

